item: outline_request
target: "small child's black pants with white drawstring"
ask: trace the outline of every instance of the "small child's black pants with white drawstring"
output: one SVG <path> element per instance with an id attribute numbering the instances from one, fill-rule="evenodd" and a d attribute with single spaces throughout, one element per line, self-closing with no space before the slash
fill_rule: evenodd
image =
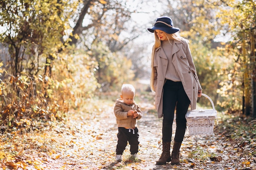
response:
<path id="1" fill-rule="evenodd" d="M 130 131 L 130 132 L 129 132 Z M 123 152 L 127 146 L 127 141 L 130 144 L 130 152 L 131 155 L 134 155 L 135 153 L 139 152 L 139 130 L 136 127 L 134 129 L 134 134 L 132 129 L 126 129 L 126 128 L 118 128 L 117 133 L 117 155 L 123 155 Z"/>

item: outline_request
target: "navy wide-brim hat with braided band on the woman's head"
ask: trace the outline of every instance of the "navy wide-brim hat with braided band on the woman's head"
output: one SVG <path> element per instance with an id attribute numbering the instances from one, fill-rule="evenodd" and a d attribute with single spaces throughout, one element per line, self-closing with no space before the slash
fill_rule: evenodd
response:
<path id="1" fill-rule="evenodd" d="M 167 16 L 158 17 L 157 20 L 155 20 L 154 26 L 148 28 L 148 31 L 153 33 L 156 29 L 162 30 L 168 34 L 180 31 L 179 28 L 173 27 L 172 19 Z"/>

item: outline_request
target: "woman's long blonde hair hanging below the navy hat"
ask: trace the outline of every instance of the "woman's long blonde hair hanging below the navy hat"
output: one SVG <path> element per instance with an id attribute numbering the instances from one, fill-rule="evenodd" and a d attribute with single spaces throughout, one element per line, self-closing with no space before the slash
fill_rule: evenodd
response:
<path id="1" fill-rule="evenodd" d="M 151 76 L 150 76 L 150 88 L 151 88 L 151 91 L 156 91 L 156 89 L 154 88 L 154 78 L 155 78 L 155 70 L 154 70 L 154 56 L 155 56 L 155 49 L 157 49 L 159 46 L 161 46 L 161 40 L 159 39 L 159 37 L 157 36 L 157 33 L 156 31 L 154 31 L 154 34 L 155 34 L 155 44 L 153 46 L 153 49 L 152 49 L 152 53 L 151 53 Z M 186 41 L 187 43 L 189 43 L 189 40 L 183 38 L 180 36 L 180 34 L 177 32 L 177 33 L 173 33 L 173 34 L 168 34 L 166 32 L 164 32 L 164 34 L 166 35 L 168 41 L 170 42 L 170 40 L 178 40 L 180 42 L 183 41 Z M 184 42 L 182 42 L 184 43 Z M 170 42 L 171 44 L 171 42 Z M 172 44 L 171 44 L 172 45 Z"/>

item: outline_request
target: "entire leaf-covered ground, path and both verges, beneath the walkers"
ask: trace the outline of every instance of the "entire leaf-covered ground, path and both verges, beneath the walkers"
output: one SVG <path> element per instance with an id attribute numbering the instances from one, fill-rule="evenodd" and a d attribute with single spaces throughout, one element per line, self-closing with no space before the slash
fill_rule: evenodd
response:
<path id="1" fill-rule="evenodd" d="M 157 118 L 152 101 L 139 101 L 144 114 L 138 121 L 139 160 L 129 159 L 128 145 L 123 161 L 115 162 L 115 101 L 105 99 L 39 131 L 1 132 L 0 170 L 256 170 L 255 123 L 222 113 L 215 135 L 186 132 L 180 165 L 155 165 L 162 153 L 162 119 Z M 173 128 L 175 132 L 175 122 Z"/>

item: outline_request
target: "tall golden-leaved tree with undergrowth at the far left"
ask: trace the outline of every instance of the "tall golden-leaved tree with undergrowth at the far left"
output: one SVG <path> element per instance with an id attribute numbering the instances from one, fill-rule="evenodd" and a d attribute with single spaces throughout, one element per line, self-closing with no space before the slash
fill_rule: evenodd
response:
<path id="1" fill-rule="evenodd" d="M 61 57 L 58 51 L 65 46 L 76 5 L 65 0 L 0 1 L 0 42 L 9 50 L 1 56 L 7 59 L 1 77 L 2 125 L 29 127 L 33 121 L 22 117 L 48 121 L 67 111 L 65 95 L 70 93 L 61 89 L 66 84 L 49 77 L 47 67 L 49 56 Z"/>

